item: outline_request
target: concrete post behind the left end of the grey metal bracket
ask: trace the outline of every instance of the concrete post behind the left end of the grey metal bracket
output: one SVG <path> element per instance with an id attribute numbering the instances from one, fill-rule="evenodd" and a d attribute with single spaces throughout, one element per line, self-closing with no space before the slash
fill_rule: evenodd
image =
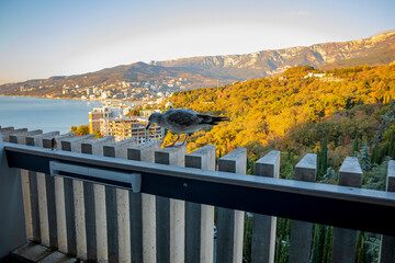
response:
<path id="1" fill-rule="evenodd" d="M 53 141 L 52 139 L 55 139 L 55 141 L 57 141 L 56 146 L 54 147 L 54 150 L 60 150 L 60 140 L 65 139 L 65 138 L 71 138 L 71 137 L 76 137 L 77 134 L 76 133 L 69 133 L 69 134 L 63 134 L 63 135 L 58 135 L 55 136 L 53 138 L 48 137 L 48 138 L 43 138 L 43 147 L 47 148 L 47 149 L 52 149 L 53 148 Z M 49 248 L 53 249 L 58 249 L 61 248 L 59 247 L 59 240 L 58 240 L 58 232 L 63 231 L 64 232 L 64 237 L 66 237 L 66 218 L 63 218 L 63 221 L 65 222 L 65 228 L 58 228 L 58 224 L 57 224 L 57 206 L 56 206 L 56 195 L 60 192 L 61 195 L 64 196 L 64 187 L 56 187 L 55 186 L 55 181 L 56 180 L 60 180 L 58 179 L 54 179 L 53 176 L 50 176 L 50 174 L 45 174 L 45 187 L 46 187 L 46 196 L 47 196 L 47 213 L 48 213 L 48 229 L 49 229 Z M 63 180 L 61 180 L 63 182 Z M 61 229 L 61 230 L 60 230 Z M 66 249 L 66 240 L 64 241 L 64 249 L 63 251 L 67 251 Z"/>

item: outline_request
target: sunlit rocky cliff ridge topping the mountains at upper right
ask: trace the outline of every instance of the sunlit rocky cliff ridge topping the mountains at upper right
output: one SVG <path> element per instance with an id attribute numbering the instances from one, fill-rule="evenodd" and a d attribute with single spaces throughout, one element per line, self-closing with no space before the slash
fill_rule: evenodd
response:
<path id="1" fill-rule="evenodd" d="M 377 49 L 388 49 L 392 44 L 395 44 L 395 32 L 350 42 L 330 42 L 311 46 L 268 49 L 244 55 L 153 60 L 150 65 L 192 68 L 199 72 L 210 70 L 218 72 L 222 77 L 232 76 L 239 79 L 250 79 L 280 75 L 287 68 L 302 65 L 319 68 L 326 64 L 365 56 L 377 52 Z"/>

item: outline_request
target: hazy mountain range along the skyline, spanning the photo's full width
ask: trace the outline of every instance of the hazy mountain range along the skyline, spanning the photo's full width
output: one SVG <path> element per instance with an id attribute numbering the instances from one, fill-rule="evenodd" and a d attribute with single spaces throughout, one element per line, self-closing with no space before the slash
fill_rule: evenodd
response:
<path id="1" fill-rule="evenodd" d="M 174 60 L 135 62 L 95 72 L 69 77 L 52 77 L 45 80 L 29 80 L 0 85 L 3 91 L 18 92 L 20 85 L 61 88 L 64 84 L 80 87 L 103 85 L 121 81 L 162 80 L 183 78 L 190 82 L 187 89 L 232 83 L 281 75 L 287 68 L 309 65 L 331 69 L 354 65 L 387 65 L 395 60 L 395 32 L 379 34 L 369 38 L 316 44 L 307 47 L 291 47 L 276 50 L 261 50 L 245 55 L 203 56 Z"/>

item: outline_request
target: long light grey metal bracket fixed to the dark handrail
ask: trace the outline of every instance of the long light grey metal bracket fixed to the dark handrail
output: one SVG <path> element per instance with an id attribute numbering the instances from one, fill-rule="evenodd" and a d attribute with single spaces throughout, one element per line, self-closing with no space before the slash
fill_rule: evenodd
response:
<path id="1" fill-rule="evenodd" d="M 114 172 L 58 161 L 49 161 L 49 171 L 52 176 L 70 178 L 103 185 L 132 188 L 133 193 L 139 193 L 142 188 L 140 173 Z"/>

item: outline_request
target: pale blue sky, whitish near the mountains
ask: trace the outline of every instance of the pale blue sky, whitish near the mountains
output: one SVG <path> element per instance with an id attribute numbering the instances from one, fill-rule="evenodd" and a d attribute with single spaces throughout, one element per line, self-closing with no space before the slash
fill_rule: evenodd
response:
<path id="1" fill-rule="evenodd" d="M 395 31 L 394 0 L 0 0 L 0 84 Z"/>

